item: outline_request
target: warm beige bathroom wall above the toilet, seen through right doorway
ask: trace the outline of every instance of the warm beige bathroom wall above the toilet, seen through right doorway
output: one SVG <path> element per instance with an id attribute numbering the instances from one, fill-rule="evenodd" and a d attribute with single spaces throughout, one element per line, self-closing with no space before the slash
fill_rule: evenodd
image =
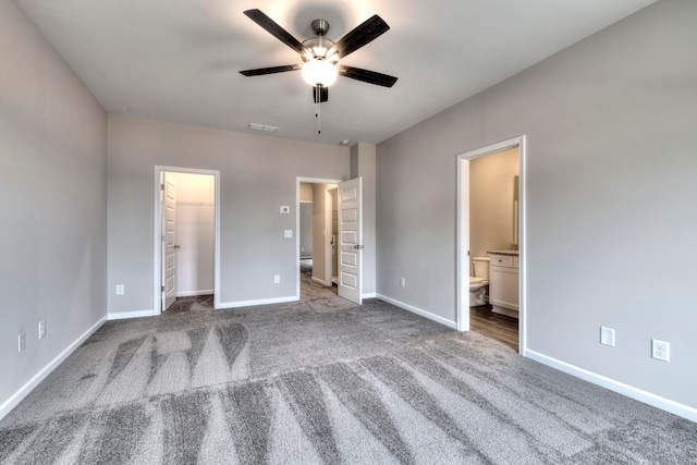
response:
<path id="1" fill-rule="evenodd" d="M 479 157 L 469 162 L 469 256 L 511 248 L 513 243 L 513 178 L 518 149 Z M 470 267 L 470 276 L 474 271 Z"/>

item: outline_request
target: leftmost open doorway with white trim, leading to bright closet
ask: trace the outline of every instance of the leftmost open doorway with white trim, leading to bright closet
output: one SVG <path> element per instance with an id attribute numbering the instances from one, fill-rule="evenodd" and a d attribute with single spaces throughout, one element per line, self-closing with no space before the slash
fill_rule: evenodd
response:
<path id="1" fill-rule="evenodd" d="M 220 305 L 219 184 L 219 171 L 155 167 L 156 314 Z"/>

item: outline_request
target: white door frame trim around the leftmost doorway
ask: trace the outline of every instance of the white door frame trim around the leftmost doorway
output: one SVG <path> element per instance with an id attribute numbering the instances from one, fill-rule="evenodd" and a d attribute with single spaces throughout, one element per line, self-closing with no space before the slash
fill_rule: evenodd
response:
<path id="1" fill-rule="evenodd" d="M 156 164 L 154 169 L 154 234 L 152 234 L 152 313 L 162 314 L 162 201 L 160 183 L 164 172 L 207 174 L 215 178 L 215 237 L 213 237 L 213 307 L 220 308 L 220 171 L 197 168 L 164 167 Z"/>

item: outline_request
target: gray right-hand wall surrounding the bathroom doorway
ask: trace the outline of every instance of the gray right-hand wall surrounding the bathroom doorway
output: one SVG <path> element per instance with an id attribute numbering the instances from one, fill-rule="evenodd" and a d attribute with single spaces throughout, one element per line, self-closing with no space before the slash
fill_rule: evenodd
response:
<path id="1" fill-rule="evenodd" d="M 380 144 L 378 293 L 454 320 L 456 156 L 524 134 L 528 350 L 697 407 L 695 24 L 658 2 Z"/>

